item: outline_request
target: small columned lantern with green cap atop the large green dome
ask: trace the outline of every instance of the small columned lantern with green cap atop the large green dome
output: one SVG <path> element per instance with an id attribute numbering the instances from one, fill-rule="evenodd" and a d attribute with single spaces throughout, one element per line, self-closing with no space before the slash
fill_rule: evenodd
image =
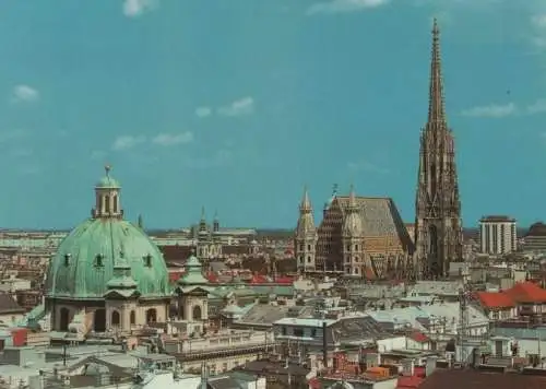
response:
<path id="1" fill-rule="evenodd" d="M 105 176 L 95 186 L 95 208 L 93 219 L 122 219 L 119 182 L 110 176 L 111 167 L 105 166 Z"/>

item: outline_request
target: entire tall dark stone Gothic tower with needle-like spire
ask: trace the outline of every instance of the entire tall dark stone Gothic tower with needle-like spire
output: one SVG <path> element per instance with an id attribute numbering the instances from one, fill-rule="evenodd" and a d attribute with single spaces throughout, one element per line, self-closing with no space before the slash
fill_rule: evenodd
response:
<path id="1" fill-rule="evenodd" d="M 440 59 L 440 31 L 435 19 L 428 121 L 420 133 L 415 200 L 416 276 L 447 276 L 450 262 L 462 261 L 461 201 L 455 145 L 448 127 Z"/>

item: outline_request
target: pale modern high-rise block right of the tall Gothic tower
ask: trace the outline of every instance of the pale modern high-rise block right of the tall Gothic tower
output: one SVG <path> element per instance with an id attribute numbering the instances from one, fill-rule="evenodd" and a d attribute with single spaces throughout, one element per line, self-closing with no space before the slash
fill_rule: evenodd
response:
<path id="1" fill-rule="evenodd" d="M 479 247 L 482 252 L 509 254 L 515 251 L 517 246 L 515 219 L 492 215 L 479 220 Z"/>

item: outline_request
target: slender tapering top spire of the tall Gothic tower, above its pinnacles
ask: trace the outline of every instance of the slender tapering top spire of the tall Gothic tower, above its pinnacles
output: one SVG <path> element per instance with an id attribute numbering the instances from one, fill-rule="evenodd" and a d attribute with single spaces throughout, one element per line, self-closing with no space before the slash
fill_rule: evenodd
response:
<path id="1" fill-rule="evenodd" d="M 432 21 L 432 52 L 430 59 L 428 122 L 446 122 L 443 80 L 440 56 L 440 27 L 438 26 L 438 20 L 436 17 Z"/>

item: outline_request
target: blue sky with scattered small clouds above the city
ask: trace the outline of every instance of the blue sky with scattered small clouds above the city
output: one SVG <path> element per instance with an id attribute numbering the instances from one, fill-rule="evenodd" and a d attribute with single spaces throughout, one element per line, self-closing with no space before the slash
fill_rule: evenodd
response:
<path id="1" fill-rule="evenodd" d="M 546 3 L 0 3 L 0 225 L 70 227 L 105 163 L 129 219 L 290 227 L 334 182 L 414 219 L 431 17 L 463 219 L 546 219 Z"/>

